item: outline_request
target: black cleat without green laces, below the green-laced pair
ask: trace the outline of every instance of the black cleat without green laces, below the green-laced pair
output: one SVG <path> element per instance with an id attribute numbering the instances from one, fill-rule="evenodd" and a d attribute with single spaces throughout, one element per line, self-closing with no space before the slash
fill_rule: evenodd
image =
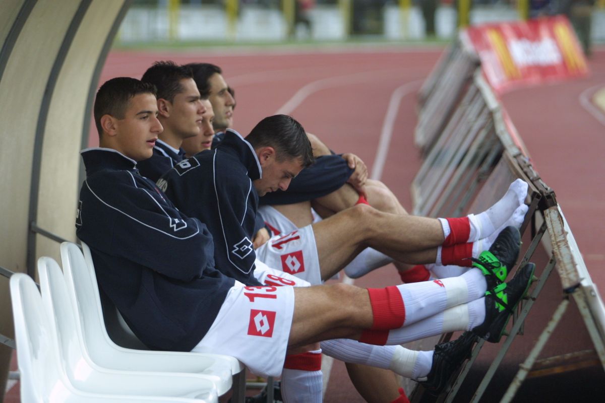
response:
<path id="1" fill-rule="evenodd" d="M 435 346 L 431 371 L 425 381 L 420 381 L 428 393 L 438 396 L 443 392 L 464 360 L 471 357 L 475 341 L 477 336 L 473 332 L 464 332 L 456 340 Z"/>

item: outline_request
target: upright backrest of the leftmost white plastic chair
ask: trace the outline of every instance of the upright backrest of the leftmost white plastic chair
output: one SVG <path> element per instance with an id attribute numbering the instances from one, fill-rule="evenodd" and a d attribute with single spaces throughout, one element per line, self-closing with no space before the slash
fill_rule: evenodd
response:
<path id="1" fill-rule="evenodd" d="M 41 402 L 51 390 L 62 385 L 59 353 L 51 342 L 42 297 L 31 277 L 13 274 L 10 297 L 21 373 L 21 402 Z"/>

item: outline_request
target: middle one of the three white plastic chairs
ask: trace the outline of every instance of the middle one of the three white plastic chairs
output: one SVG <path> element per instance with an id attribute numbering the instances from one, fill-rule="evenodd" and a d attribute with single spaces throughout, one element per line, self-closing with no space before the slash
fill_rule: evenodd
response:
<path id="1" fill-rule="evenodd" d="M 193 373 L 134 372 L 107 369 L 93 363 L 76 330 L 65 280 L 59 265 L 50 257 L 38 259 L 42 301 L 50 324 L 52 348 L 73 387 L 90 393 L 175 396 L 218 402 L 216 377 Z"/>

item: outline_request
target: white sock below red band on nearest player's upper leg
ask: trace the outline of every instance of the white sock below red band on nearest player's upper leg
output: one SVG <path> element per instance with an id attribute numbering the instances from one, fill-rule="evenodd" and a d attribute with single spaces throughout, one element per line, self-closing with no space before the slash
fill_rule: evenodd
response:
<path id="1" fill-rule="evenodd" d="M 398 285 L 405 306 L 405 325 L 431 317 L 447 308 L 482 297 L 487 289 L 479 269 L 458 277 Z"/>

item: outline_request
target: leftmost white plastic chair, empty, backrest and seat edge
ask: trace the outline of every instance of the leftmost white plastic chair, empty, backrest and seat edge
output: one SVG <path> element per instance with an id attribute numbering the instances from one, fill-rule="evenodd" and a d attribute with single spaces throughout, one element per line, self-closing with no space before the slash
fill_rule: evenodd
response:
<path id="1" fill-rule="evenodd" d="M 59 364 L 42 298 L 31 277 L 10 278 L 22 403 L 204 403 L 202 399 L 92 394 L 76 390 Z"/>

